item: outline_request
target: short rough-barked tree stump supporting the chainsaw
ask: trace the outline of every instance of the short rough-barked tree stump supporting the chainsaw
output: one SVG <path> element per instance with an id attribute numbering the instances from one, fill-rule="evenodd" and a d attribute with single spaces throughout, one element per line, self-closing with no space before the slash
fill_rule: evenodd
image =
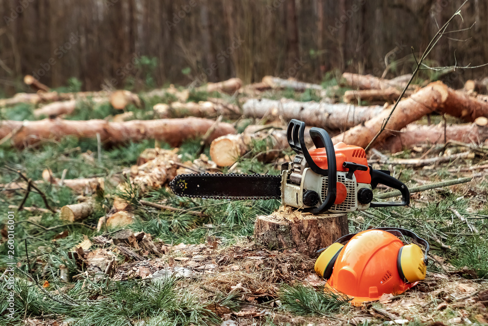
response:
<path id="1" fill-rule="evenodd" d="M 254 241 L 271 250 L 295 248 L 314 257 L 347 233 L 347 213 L 312 215 L 288 206 L 257 217 Z"/>

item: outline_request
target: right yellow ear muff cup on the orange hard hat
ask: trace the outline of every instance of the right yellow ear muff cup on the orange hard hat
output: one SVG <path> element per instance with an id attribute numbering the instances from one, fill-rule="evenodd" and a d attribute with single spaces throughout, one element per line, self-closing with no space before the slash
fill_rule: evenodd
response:
<path id="1" fill-rule="evenodd" d="M 422 249 L 413 243 L 401 247 L 398 252 L 397 267 L 400 278 L 405 282 L 414 283 L 425 279 L 427 266 Z"/>

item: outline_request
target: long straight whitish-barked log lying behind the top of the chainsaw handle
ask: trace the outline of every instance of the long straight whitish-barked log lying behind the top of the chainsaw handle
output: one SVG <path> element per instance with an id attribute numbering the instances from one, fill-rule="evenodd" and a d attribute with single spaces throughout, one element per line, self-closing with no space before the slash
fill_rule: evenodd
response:
<path id="1" fill-rule="evenodd" d="M 383 110 L 381 106 L 357 107 L 350 104 L 267 99 L 251 99 L 243 106 L 243 113 L 247 117 L 283 117 L 288 121 L 298 119 L 307 126 L 329 130 L 347 130 L 372 119 Z"/>

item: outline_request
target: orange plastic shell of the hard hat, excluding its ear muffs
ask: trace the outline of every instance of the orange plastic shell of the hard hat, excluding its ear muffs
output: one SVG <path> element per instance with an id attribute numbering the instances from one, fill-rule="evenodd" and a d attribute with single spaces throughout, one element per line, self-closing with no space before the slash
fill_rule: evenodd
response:
<path id="1" fill-rule="evenodd" d="M 379 300 L 384 293 L 405 292 L 418 282 L 407 283 L 398 272 L 397 257 L 402 247 L 404 243 L 386 231 L 358 233 L 337 256 L 326 286 L 354 297 L 352 304 Z"/>

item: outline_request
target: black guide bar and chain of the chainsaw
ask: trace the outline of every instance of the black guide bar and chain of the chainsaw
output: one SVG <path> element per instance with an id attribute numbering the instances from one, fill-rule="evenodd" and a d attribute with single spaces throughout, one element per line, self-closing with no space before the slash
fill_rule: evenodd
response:
<path id="1" fill-rule="evenodd" d="M 182 197 L 280 199 L 281 179 L 269 174 L 179 174 L 169 186 Z"/>

